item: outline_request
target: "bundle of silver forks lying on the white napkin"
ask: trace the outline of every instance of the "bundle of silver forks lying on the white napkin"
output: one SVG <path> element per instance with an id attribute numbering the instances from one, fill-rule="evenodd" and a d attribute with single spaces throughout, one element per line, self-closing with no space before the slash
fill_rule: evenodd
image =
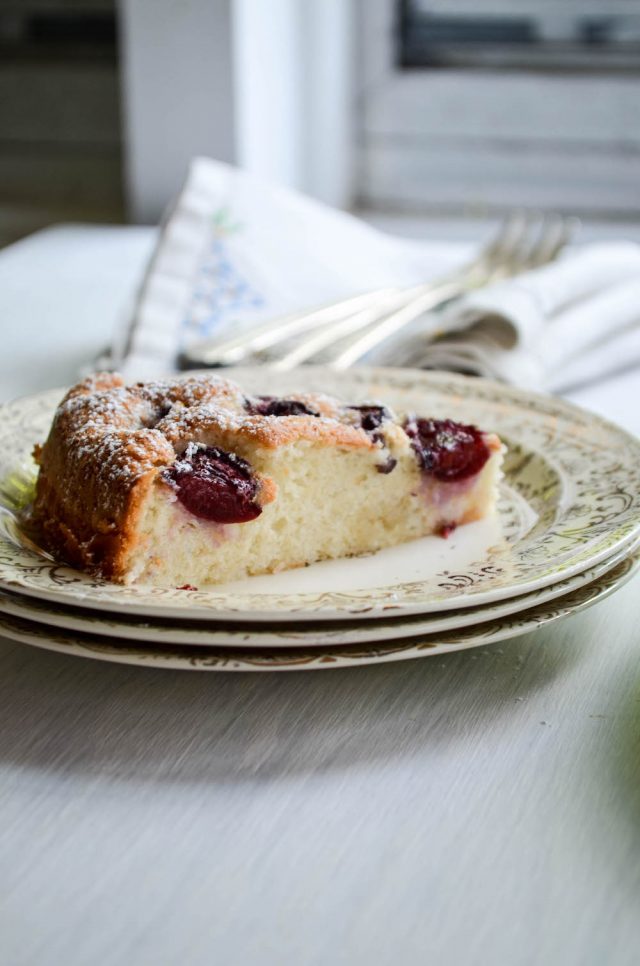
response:
<path id="1" fill-rule="evenodd" d="M 348 368 L 424 312 L 496 278 L 550 261 L 570 233 L 565 219 L 550 216 L 541 221 L 539 215 L 515 212 L 470 263 L 449 276 L 411 288 L 378 289 L 271 319 L 231 339 L 195 344 L 185 350 L 182 363 L 228 366 L 257 356 L 272 368 L 287 370 L 339 342 L 340 351 L 329 364 Z M 283 343 L 309 332 L 308 338 L 274 357 Z"/>

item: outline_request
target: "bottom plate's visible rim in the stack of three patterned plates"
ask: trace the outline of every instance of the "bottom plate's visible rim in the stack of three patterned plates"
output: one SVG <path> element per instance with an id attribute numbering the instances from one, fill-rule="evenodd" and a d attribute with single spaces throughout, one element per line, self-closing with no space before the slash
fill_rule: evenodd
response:
<path id="1" fill-rule="evenodd" d="M 461 631 L 445 631 L 405 642 L 387 641 L 364 646 L 300 647 L 280 650 L 234 650 L 156 644 L 101 638 L 99 635 L 52 630 L 0 614 L 0 635 L 50 651 L 91 657 L 118 664 L 188 671 L 320 671 L 360 667 L 389 661 L 430 657 L 519 637 L 598 603 L 625 584 L 640 566 L 640 557 L 627 557 L 607 574 L 564 597 L 539 604 L 521 614 L 503 617 Z"/>

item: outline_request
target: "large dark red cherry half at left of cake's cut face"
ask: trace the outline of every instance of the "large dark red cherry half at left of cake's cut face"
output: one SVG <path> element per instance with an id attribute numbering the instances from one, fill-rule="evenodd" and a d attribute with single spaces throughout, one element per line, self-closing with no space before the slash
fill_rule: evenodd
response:
<path id="1" fill-rule="evenodd" d="M 248 523 L 262 513 L 246 460 L 214 446 L 187 452 L 164 472 L 185 510 L 213 523 Z"/>

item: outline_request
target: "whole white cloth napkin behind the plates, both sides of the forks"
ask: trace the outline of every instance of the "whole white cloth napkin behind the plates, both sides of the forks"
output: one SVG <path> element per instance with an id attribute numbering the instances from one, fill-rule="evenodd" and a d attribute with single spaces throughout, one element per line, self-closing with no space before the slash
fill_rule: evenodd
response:
<path id="1" fill-rule="evenodd" d="M 236 168 L 196 159 L 161 227 L 111 363 L 175 368 L 185 345 L 455 269 L 473 247 L 386 235 Z M 640 362 L 640 246 L 582 246 L 418 320 L 371 361 L 563 390 Z"/>

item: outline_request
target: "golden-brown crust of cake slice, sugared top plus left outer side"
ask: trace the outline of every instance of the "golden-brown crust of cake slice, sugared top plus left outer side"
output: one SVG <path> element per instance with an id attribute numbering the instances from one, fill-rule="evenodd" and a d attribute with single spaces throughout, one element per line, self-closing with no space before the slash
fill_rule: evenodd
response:
<path id="1" fill-rule="evenodd" d="M 37 448 L 34 519 L 54 552 L 90 566 L 109 558 L 109 541 L 122 543 L 152 478 L 190 443 L 248 457 L 298 440 L 376 446 L 356 410 L 322 395 L 245 396 L 210 375 L 126 385 L 98 373 L 67 393 Z"/>

